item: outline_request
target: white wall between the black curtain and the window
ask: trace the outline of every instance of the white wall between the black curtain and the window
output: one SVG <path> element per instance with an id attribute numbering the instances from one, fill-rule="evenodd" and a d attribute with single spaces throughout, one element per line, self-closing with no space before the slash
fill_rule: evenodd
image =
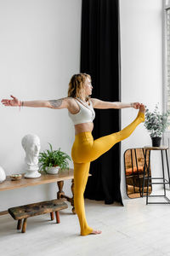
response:
<path id="1" fill-rule="evenodd" d="M 162 1 L 120 0 L 122 102 L 143 102 L 162 108 Z M 135 109 L 122 110 L 122 128 L 136 116 Z M 144 125 L 139 125 L 133 135 L 122 142 L 122 157 L 127 148 L 150 145 L 150 136 Z M 160 158 L 152 152 L 152 174 L 160 176 Z M 122 195 L 125 193 L 122 158 Z M 154 187 L 154 189 L 156 189 Z"/>

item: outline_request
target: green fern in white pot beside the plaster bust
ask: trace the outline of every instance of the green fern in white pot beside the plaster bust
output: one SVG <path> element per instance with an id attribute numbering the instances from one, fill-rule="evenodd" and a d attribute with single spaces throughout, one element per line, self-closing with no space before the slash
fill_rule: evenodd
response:
<path id="1" fill-rule="evenodd" d="M 49 150 L 45 150 L 39 154 L 39 163 L 40 171 L 49 174 L 56 174 L 60 170 L 69 169 L 68 160 L 71 160 L 71 157 L 65 152 L 62 152 L 60 148 L 54 150 L 52 145 L 49 144 Z"/>

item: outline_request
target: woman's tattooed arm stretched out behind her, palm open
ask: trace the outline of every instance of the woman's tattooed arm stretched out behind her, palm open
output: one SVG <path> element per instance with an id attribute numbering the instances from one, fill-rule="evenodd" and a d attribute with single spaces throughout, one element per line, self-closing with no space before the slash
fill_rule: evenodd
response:
<path id="1" fill-rule="evenodd" d="M 49 101 L 20 101 L 16 97 L 11 95 L 12 99 L 3 99 L 1 102 L 7 107 L 32 107 L 32 108 L 68 108 L 68 98 L 62 98 L 58 100 Z"/>

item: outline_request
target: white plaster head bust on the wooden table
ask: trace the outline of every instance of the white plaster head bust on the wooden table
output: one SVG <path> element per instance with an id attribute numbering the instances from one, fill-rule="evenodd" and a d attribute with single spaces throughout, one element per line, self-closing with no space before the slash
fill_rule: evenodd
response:
<path id="1" fill-rule="evenodd" d="M 22 138 L 22 147 L 26 151 L 26 174 L 25 177 L 40 177 L 41 173 L 37 172 L 38 167 L 38 155 L 40 152 L 40 139 L 35 134 L 27 134 Z"/>

